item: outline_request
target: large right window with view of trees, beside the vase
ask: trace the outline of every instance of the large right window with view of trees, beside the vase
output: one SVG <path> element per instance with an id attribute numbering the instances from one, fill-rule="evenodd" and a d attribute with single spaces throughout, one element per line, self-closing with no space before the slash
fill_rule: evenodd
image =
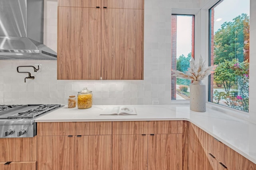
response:
<path id="1" fill-rule="evenodd" d="M 221 0 L 209 10 L 209 57 L 216 65 L 209 102 L 249 111 L 250 0 Z"/>

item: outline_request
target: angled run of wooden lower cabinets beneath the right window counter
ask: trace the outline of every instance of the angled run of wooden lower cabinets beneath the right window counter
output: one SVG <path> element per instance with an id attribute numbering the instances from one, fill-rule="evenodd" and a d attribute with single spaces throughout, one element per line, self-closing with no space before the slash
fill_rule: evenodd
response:
<path id="1" fill-rule="evenodd" d="M 188 170 L 256 170 L 256 164 L 192 123 L 188 124 Z"/>

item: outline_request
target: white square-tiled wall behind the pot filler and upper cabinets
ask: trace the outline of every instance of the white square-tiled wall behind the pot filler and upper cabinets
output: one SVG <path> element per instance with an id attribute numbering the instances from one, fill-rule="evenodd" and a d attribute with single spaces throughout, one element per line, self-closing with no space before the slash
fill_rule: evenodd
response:
<path id="1" fill-rule="evenodd" d="M 144 80 L 56 80 L 56 61 L 0 60 L 0 104 L 67 104 L 83 87 L 93 91 L 94 105 L 171 102 L 171 9 L 199 8 L 199 0 L 144 0 Z M 57 51 L 57 0 L 45 0 L 44 42 Z M 30 71 L 17 66 L 40 64 Z M 25 69 L 25 68 L 22 68 Z"/>

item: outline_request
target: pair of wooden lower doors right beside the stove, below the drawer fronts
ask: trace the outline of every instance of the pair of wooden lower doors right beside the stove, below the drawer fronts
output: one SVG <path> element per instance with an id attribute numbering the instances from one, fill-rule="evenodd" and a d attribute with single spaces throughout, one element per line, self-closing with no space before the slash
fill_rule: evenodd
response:
<path id="1" fill-rule="evenodd" d="M 110 170 L 111 140 L 111 135 L 38 137 L 37 170 Z"/>

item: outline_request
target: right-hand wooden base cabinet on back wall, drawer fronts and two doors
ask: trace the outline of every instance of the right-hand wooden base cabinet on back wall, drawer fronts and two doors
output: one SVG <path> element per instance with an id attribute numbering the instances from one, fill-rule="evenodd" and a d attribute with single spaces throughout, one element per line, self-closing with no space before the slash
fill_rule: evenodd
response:
<path id="1" fill-rule="evenodd" d="M 112 170 L 182 170 L 182 121 L 113 122 Z"/>

